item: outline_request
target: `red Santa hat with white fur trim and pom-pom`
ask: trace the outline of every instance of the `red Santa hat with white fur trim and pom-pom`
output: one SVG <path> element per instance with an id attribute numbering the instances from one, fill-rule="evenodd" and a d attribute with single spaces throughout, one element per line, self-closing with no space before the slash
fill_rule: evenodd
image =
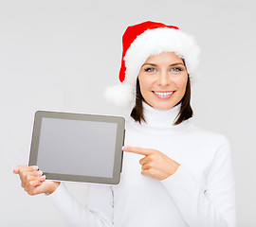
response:
<path id="1" fill-rule="evenodd" d="M 119 71 L 120 83 L 108 87 L 104 96 L 119 107 L 127 107 L 136 100 L 137 75 L 141 65 L 151 56 L 174 52 L 185 60 L 190 79 L 197 77 L 200 49 L 191 35 L 177 26 L 143 22 L 128 26 L 122 36 L 122 58 Z"/>

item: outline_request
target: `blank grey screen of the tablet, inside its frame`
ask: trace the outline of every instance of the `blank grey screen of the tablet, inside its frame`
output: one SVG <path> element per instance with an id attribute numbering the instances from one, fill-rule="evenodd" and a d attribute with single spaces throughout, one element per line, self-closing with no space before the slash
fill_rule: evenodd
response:
<path id="1" fill-rule="evenodd" d="M 46 172 L 112 178 L 116 137 L 117 123 L 43 117 L 38 166 Z"/>

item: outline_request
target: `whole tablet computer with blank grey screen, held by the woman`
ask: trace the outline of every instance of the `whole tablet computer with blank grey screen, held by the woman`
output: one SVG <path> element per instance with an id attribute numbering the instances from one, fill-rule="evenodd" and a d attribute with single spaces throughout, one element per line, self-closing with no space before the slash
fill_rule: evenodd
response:
<path id="1" fill-rule="evenodd" d="M 47 180 L 118 184 L 124 126 L 121 116 L 38 111 L 28 165 Z"/>

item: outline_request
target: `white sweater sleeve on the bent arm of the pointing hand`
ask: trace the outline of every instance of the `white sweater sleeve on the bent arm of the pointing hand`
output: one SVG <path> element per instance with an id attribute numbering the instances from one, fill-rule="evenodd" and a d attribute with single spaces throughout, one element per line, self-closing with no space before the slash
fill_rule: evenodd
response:
<path id="1" fill-rule="evenodd" d="M 229 142 L 219 146 L 206 185 L 200 185 L 181 164 L 174 175 L 161 181 L 190 227 L 234 227 L 235 194 Z"/>

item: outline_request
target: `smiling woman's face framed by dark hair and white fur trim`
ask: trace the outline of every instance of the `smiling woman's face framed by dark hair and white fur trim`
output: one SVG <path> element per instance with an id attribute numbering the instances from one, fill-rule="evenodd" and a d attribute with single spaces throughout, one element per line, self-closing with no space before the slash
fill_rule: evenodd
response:
<path id="1" fill-rule="evenodd" d="M 188 81 L 186 66 L 174 52 L 150 56 L 138 73 L 144 101 L 158 110 L 172 109 L 184 96 Z"/>

